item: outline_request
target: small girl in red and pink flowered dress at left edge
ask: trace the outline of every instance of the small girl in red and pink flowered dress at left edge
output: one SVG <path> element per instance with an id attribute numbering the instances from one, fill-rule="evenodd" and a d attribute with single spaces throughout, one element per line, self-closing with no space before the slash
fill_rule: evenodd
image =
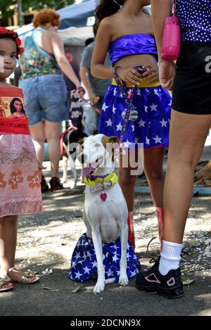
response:
<path id="1" fill-rule="evenodd" d="M 36 274 L 15 269 L 18 215 L 42 208 L 39 165 L 25 116 L 22 89 L 6 82 L 23 53 L 13 30 L 0 27 L 0 292 L 32 284 Z M 16 102 L 16 103 L 15 103 Z M 11 105 L 21 115 L 11 115 Z"/>

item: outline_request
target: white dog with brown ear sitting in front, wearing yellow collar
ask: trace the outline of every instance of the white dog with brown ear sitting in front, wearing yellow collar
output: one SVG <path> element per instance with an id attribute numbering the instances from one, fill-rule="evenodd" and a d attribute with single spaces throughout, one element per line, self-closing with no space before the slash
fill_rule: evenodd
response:
<path id="1" fill-rule="evenodd" d="M 102 243 L 111 243 L 120 236 L 121 259 L 119 284 L 127 285 L 127 204 L 114 172 L 114 153 L 110 146 L 119 146 L 117 137 L 96 134 L 82 142 L 79 161 L 84 164 L 85 189 L 84 223 L 96 253 L 98 280 L 94 293 L 105 288 Z M 119 153 L 122 148 L 119 146 Z M 97 179 L 97 182 L 96 182 Z M 99 182 L 100 181 L 100 182 Z M 106 281 L 109 283 L 110 281 Z"/>

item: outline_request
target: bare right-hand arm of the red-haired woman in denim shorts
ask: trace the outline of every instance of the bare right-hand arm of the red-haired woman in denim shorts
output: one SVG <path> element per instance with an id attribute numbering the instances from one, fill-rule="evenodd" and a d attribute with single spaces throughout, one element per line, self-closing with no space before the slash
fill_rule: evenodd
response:
<path id="1" fill-rule="evenodd" d="M 75 75 L 74 70 L 72 69 L 72 65 L 70 65 L 68 59 L 65 56 L 63 40 L 56 33 L 52 34 L 51 47 L 60 70 L 62 70 L 62 72 L 73 82 L 73 84 L 75 84 L 76 88 L 78 89 L 80 82 L 77 78 L 77 75 Z"/>

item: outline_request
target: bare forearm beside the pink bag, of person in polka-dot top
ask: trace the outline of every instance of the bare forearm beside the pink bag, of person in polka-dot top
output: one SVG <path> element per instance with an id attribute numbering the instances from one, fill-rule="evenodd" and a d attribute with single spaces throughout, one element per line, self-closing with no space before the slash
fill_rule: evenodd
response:
<path id="1" fill-rule="evenodd" d="M 170 15 L 172 8 L 171 0 L 152 0 L 152 20 L 155 40 L 158 48 L 158 57 L 160 58 L 160 49 L 162 46 L 162 33 L 165 18 Z"/>

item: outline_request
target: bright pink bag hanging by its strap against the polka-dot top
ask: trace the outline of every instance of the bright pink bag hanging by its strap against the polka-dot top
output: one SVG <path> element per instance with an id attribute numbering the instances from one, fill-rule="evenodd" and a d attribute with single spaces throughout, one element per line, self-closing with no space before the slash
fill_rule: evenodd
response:
<path id="1" fill-rule="evenodd" d="M 165 19 L 162 35 L 161 58 L 165 61 L 175 61 L 180 53 L 180 26 L 176 16 L 176 0 L 173 1 L 173 13 Z"/>

